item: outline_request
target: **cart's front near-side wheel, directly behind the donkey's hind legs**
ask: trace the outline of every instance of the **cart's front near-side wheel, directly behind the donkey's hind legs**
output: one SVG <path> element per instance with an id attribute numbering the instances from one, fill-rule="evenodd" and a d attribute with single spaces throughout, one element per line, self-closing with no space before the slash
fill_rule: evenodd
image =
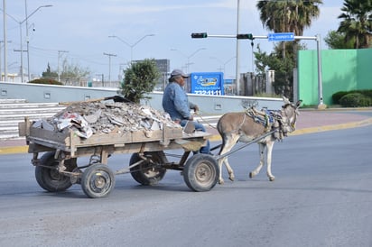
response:
<path id="1" fill-rule="evenodd" d="M 193 191 L 209 191 L 219 180 L 218 163 L 209 154 L 195 154 L 186 161 L 183 179 Z"/>

